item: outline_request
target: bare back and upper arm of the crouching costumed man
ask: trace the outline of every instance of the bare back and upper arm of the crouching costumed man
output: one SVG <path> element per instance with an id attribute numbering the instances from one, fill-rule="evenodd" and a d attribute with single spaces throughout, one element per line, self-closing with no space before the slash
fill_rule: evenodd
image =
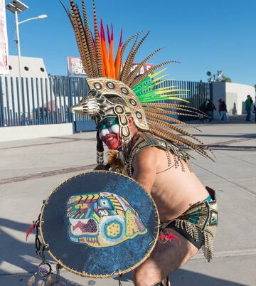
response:
<path id="1" fill-rule="evenodd" d="M 209 194 L 185 162 L 174 166 L 171 154 L 171 168 L 166 151 L 157 147 L 140 150 L 134 158 L 134 176 L 151 194 L 159 211 L 160 221 L 168 222 L 181 216 L 191 205 L 206 199 Z"/>

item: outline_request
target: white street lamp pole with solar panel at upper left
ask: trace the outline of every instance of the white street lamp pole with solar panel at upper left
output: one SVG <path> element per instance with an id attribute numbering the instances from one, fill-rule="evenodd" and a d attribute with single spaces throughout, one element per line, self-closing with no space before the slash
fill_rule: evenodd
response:
<path id="1" fill-rule="evenodd" d="M 42 19 L 42 18 L 47 18 L 47 15 L 39 15 L 37 17 L 33 18 L 28 18 L 26 20 L 23 20 L 21 22 L 18 21 L 18 14 L 23 12 L 24 10 L 28 9 L 28 6 L 26 4 L 23 4 L 21 1 L 14 0 L 11 1 L 8 5 L 6 5 L 6 9 L 11 11 L 11 13 L 15 14 L 15 22 L 16 22 L 16 34 L 17 34 L 17 46 L 18 46 L 18 73 L 19 73 L 19 78 L 21 80 L 21 45 L 20 45 L 20 39 L 19 39 L 19 31 L 18 31 L 18 26 L 21 23 L 25 23 L 31 20 L 36 20 L 36 19 Z"/>

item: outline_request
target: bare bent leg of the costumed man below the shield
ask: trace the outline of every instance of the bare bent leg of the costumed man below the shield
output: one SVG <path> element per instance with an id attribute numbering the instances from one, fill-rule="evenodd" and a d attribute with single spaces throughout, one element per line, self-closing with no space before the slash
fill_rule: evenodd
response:
<path id="1" fill-rule="evenodd" d="M 171 229 L 168 229 L 168 232 L 178 236 L 180 242 L 174 239 L 164 244 L 156 243 L 150 257 L 133 272 L 136 286 L 151 286 L 160 282 L 198 252 L 198 249 L 182 235 Z"/>

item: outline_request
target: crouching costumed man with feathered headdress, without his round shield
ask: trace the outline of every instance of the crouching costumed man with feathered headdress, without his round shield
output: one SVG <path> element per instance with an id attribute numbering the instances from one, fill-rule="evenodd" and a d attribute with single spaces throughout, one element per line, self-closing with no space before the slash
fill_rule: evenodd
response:
<path id="1" fill-rule="evenodd" d="M 166 285 L 165 277 L 184 265 L 200 248 L 208 261 L 213 254 L 218 219 L 215 191 L 198 180 L 189 165 L 191 155 L 186 152 L 186 149 L 192 149 L 211 158 L 210 150 L 186 130 L 192 126 L 171 117 L 198 117 L 200 112 L 186 105 L 186 100 L 183 100 L 183 105 L 164 102 L 182 100 L 178 98 L 181 90 L 169 86 L 170 82 L 163 79 L 164 70 L 156 71 L 173 62 L 155 65 L 137 75 L 144 63 L 161 48 L 131 71 L 134 57 L 149 33 L 140 40 L 141 33 L 136 33 L 122 43 L 121 31 L 114 59 L 112 26 L 111 31 L 107 26 L 105 33 L 101 21 L 98 28 L 94 1 L 92 4 L 94 33 L 88 25 L 84 0 L 82 13 L 71 0 L 70 11 L 65 9 L 75 31 L 90 88 L 71 110 L 90 115 L 95 121 L 96 169 L 131 176 L 154 199 L 161 221 L 159 242 L 149 258 L 134 270 L 133 279 L 134 284 L 139 286 Z M 132 48 L 127 52 L 122 67 L 129 43 L 132 43 Z M 164 83 L 164 88 L 159 88 L 161 83 Z M 104 164 L 102 143 L 112 150 L 107 164 Z"/>

